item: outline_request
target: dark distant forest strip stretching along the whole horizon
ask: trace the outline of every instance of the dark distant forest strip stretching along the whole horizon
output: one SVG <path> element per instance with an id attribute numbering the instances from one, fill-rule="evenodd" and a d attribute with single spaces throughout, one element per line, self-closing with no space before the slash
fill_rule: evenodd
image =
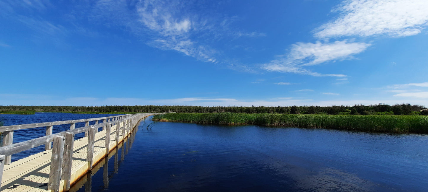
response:
<path id="1" fill-rule="evenodd" d="M 72 106 L 0 106 L 0 111 L 43 111 L 43 112 L 124 112 L 124 113 L 291 113 L 291 114 L 349 114 L 349 115 L 428 115 L 423 105 L 395 104 L 385 105 L 354 105 L 354 106 L 278 106 L 278 107 L 238 107 L 238 106 L 99 106 L 99 107 L 72 107 Z"/>

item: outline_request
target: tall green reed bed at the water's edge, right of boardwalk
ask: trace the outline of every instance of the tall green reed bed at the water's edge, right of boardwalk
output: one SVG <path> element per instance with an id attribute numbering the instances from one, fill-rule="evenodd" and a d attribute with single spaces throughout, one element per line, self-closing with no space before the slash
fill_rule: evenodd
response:
<path id="1" fill-rule="evenodd" d="M 428 133 L 428 116 L 166 113 L 155 115 L 153 120 L 216 125 L 266 125 L 391 133 Z"/>

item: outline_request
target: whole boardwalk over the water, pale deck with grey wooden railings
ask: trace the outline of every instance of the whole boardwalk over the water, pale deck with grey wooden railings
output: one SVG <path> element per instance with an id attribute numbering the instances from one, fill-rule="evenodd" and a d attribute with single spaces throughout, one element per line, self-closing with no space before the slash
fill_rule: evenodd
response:
<path id="1" fill-rule="evenodd" d="M 154 114 L 139 113 L 93 119 L 79 119 L 61 122 L 45 122 L 0 127 L 3 132 L 3 147 L 0 147 L 1 192 L 52 192 L 68 191 L 86 175 L 96 163 L 103 160 L 110 151 L 117 148 L 134 132 L 141 119 Z M 102 123 L 98 123 L 102 120 Z M 74 128 L 75 123 L 86 126 Z M 89 125 L 89 122 L 95 122 Z M 70 130 L 52 134 L 53 125 L 70 124 Z M 13 131 L 46 126 L 46 136 L 14 143 Z M 101 129 L 101 130 L 100 130 Z M 85 132 L 85 137 L 74 140 L 74 134 Z M 51 143 L 53 146 L 51 147 Z M 10 163 L 11 155 L 45 145 L 45 151 Z M 123 153 L 123 152 L 122 152 Z M 80 183 L 80 184 L 79 184 Z M 78 188 L 77 188 L 78 189 Z"/>

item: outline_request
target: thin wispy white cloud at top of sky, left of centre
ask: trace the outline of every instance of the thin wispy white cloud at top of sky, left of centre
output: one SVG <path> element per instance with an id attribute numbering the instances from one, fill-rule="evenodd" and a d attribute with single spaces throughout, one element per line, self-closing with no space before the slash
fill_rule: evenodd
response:
<path id="1" fill-rule="evenodd" d="M 175 50 L 202 61 L 215 63 L 216 50 L 198 44 L 190 36 L 201 24 L 179 2 L 144 1 L 137 4 L 137 14 L 143 26 L 150 29 L 152 40 L 147 44 L 163 50 Z M 146 33 L 143 33 L 146 35 Z"/>

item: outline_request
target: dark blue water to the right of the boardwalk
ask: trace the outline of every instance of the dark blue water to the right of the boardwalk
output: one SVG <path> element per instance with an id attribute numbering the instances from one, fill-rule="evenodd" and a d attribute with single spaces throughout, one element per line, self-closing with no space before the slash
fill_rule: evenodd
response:
<path id="1" fill-rule="evenodd" d="M 72 190 L 428 191 L 426 134 L 150 122 Z"/>

